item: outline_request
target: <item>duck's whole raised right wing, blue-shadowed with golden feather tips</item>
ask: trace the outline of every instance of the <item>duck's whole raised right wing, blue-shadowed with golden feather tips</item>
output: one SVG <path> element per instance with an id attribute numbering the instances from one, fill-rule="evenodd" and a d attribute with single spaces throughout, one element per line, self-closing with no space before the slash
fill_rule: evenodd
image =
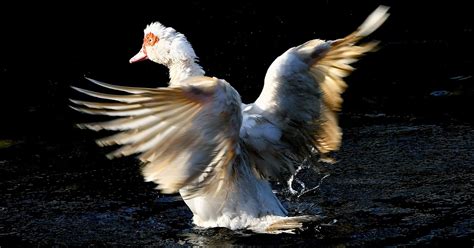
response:
<path id="1" fill-rule="evenodd" d="M 263 176 L 292 172 L 294 162 L 315 150 L 325 157 L 339 149 L 343 78 L 354 70 L 350 64 L 375 48 L 375 42 L 357 43 L 382 25 L 387 10 L 377 8 L 345 38 L 290 48 L 270 66 L 261 95 L 244 108 L 240 132 Z"/>

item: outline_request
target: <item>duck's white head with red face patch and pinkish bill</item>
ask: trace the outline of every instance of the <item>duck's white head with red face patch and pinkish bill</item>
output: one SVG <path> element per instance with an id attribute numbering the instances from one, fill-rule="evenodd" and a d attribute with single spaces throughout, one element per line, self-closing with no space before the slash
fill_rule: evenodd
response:
<path id="1" fill-rule="evenodd" d="M 145 28 L 145 36 L 140 51 L 130 59 L 130 63 L 149 59 L 170 66 L 176 61 L 194 61 L 196 54 L 183 34 L 159 22 Z"/>

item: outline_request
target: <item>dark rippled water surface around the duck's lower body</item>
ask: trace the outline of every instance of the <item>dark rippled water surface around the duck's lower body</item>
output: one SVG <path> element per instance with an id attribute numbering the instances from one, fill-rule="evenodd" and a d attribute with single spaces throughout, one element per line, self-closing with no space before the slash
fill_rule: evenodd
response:
<path id="1" fill-rule="evenodd" d="M 0 149 L 0 245 L 471 247 L 472 127 L 381 118 L 345 128 L 337 163 L 301 169 L 294 190 L 315 190 L 275 186 L 291 215 L 322 217 L 295 235 L 196 229 L 133 159 L 108 161 L 89 137 L 18 140 Z"/>

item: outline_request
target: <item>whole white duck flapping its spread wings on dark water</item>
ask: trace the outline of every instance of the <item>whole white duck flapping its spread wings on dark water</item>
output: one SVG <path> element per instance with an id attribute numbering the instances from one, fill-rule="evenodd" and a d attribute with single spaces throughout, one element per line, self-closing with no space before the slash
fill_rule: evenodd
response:
<path id="1" fill-rule="evenodd" d="M 146 181 L 163 193 L 179 192 L 199 227 L 291 232 L 311 216 L 287 217 L 272 192 L 270 178 L 294 172 L 295 163 L 337 150 L 337 121 L 343 77 L 349 64 L 371 51 L 375 42 L 356 45 L 388 17 L 377 8 L 352 34 L 334 41 L 310 40 L 290 48 L 270 66 L 258 99 L 243 105 L 226 81 L 204 77 L 184 35 L 153 23 L 145 29 L 143 47 L 130 62 L 150 59 L 170 70 L 169 87 L 114 86 L 128 94 L 104 94 L 75 88 L 111 100 L 72 100 L 74 109 L 108 116 L 108 122 L 81 124 L 118 134 L 97 141 L 122 145 L 109 158 L 139 153 Z"/>

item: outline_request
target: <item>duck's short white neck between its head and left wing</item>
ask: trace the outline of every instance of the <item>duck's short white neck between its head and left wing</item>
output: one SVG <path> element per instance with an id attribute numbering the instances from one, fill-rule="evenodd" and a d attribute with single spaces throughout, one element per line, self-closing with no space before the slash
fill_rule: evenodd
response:
<path id="1" fill-rule="evenodd" d="M 194 60 L 172 61 L 168 65 L 168 69 L 170 74 L 170 86 L 182 85 L 182 80 L 188 77 L 204 75 L 204 70 Z"/>

